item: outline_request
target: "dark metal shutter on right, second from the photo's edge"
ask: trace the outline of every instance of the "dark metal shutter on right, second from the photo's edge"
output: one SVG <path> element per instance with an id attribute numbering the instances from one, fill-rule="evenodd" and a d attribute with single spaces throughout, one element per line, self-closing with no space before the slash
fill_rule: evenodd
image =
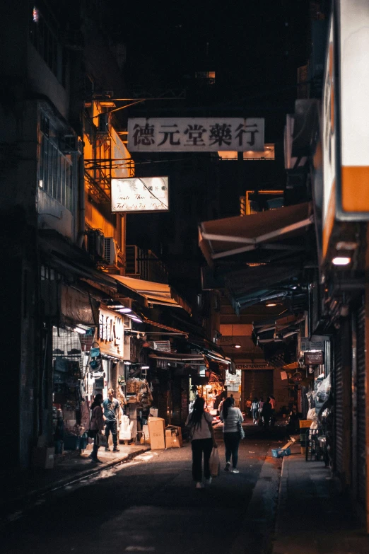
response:
<path id="1" fill-rule="evenodd" d="M 344 434 L 344 374 L 342 361 L 342 330 L 334 337 L 334 396 L 335 396 L 335 451 L 336 471 L 343 471 L 343 434 Z"/>

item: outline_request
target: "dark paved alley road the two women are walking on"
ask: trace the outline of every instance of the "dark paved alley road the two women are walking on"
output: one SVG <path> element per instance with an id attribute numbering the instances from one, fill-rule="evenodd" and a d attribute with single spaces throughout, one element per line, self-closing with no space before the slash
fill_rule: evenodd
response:
<path id="1" fill-rule="evenodd" d="M 274 527 L 281 461 L 269 456 L 281 443 L 278 429 L 270 436 L 252 425 L 245 430 L 239 474 L 223 471 L 221 429 L 216 430 L 221 475 L 204 490 L 192 483 L 190 444 L 148 451 L 14 514 L 1 552 L 250 552 L 251 543 L 260 543 Z"/>

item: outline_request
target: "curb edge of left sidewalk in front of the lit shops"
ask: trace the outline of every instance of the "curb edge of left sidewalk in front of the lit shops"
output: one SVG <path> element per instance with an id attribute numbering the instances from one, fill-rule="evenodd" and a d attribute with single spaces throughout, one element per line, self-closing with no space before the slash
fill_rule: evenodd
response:
<path id="1" fill-rule="evenodd" d="M 112 460 L 106 463 L 101 463 L 99 466 L 92 466 L 91 464 L 92 467 L 86 469 L 85 471 L 79 471 L 75 475 L 69 475 L 69 477 L 54 481 L 54 483 L 50 483 L 46 487 L 42 487 L 40 489 L 30 491 L 25 495 L 13 498 L 11 500 L 11 503 L 14 504 L 15 506 L 17 504 L 23 504 L 23 508 L 21 508 L 21 510 L 23 511 L 23 509 L 25 509 L 24 504 L 28 504 L 27 508 L 29 508 L 30 504 L 34 504 L 35 502 L 37 502 L 37 500 L 40 500 L 42 497 L 44 497 L 45 495 L 51 492 L 59 490 L 68 485 L 73 485 L 74 483 L 78 483 L 78 481 L 93 477 L 94 475 L 98 475 L 98 473 L 106 469 L 112 468 L 114 466 L 119 466 L 123 463 L 127 463 L 133 460 L 134 458 L 136 458 L 136 456 L 141 456 L 141 454 L 144 454 L 145 452 L 148 452 L 148 451 L 151 451 L 150 447 L 146 449 L 137 450 L 136 452 L 130 452 L 129 454 L 127 454 L 127 456 L 116 458 L 115 460 Z M 88 459 L 86 459 L 86 462 L 88 462 Z M 4 503 L 1 502 L 0 509 L 1 510 L 4 509 L 5 506 L 6 506 L 6 502 Z M 15 513 L 16 509 L 11 510 L 11 512 Z M 7 514 L 1 515 L 0 526 L 4 526 L 5 524 L 8 524 L 9 521 L 11 521 L 9 519 L 10 516 L 11 516 L 10 512 L 8 512 Z"/>

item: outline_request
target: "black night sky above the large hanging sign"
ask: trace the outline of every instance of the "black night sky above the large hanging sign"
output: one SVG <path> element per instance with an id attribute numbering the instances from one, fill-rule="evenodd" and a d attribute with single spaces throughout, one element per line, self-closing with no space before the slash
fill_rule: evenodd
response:
<path id="1" fill-rule="evenodd" d="M 307 0 L 117 3 L 131 88 L 216 71 L 217 100 L 293 86 L 307 50 Z M 119 6 L 122 6 L 119 9 Z M 209 54 L 206 44 L 209 43 Z"/>

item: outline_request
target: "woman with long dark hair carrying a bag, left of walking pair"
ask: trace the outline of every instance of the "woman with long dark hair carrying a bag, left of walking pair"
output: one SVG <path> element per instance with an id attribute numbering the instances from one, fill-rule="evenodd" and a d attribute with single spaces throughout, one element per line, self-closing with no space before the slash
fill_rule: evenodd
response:
<path id="1" fill-rule="evenodd" d="M 192 436 L 192 478 L 196 482 L 196 488 L 204 488 L 202 483 L 202 455 L 204 453 L 204 478 L 210 485 L 211 475 L 209 458 L 211 451 L 217 448 L 214 438 L 214 430 L 211 422 L 213 416 L 204 410 L 205 400 L 198 396 L 194 401 L 194 408 L 187 417 L 186 425 L 189 427 Z"/>

